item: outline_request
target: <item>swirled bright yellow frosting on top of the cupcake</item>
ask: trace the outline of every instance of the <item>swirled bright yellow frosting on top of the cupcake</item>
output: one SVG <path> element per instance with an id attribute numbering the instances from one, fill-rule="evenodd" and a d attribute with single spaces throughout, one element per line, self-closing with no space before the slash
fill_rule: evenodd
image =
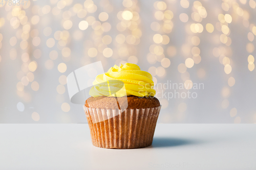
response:
<path id="1" fill-rule="evenodd" d="M 123 84 L 125 88 L 123 88 Z M 138 65 L 131 63 L 121 64 L 120 67 L 114 65 L 108 72 L 98 75 L 93 85 L 89 92 L 93 97 L 102 95 L 117 97 L 136 95 L 142 97 L 156 94 L 156 90 L 153 89 L 154 82 L 151 74 L 140 70 Z M 113 91 L 116 93 L 114 94 Z"/>

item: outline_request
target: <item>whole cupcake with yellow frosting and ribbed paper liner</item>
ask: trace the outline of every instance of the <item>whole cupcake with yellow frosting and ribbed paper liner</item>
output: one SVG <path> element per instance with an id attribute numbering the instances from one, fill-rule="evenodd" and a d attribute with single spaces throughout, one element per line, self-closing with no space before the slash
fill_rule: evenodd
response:
<path id="1" fill-rule="evenodd" d="M 152 79 L 131 63 L 96 77 L 84 104 L 93 145 L 134 149 L 152 144 L 161 108 Z"/>

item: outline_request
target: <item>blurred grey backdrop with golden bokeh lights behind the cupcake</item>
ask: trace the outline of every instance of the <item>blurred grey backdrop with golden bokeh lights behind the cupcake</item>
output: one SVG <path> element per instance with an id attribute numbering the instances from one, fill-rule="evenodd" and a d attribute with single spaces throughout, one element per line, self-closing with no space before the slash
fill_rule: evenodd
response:
<path id="1" fill-rule="evenodd" d="M 129 62 L 150 72 L 158 123 L 256 123 L 255 7 L 254 0 L 2 1 L 0 123 L 86 123 L 66 78 L 96 61 L 105 71 Z M 193 98 L 167 96 L 188 91 Z"/>

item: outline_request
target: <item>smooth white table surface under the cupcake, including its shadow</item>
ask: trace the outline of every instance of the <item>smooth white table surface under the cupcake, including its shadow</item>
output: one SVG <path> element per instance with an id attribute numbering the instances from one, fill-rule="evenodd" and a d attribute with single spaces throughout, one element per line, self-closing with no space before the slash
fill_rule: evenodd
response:
<path id="1" fill-rule="evenodd" d="M 0 124 L 0 169 L 256 169 L 255 124 L 157 124 L 153 145 L 101 149 L 88 124 Z"/>

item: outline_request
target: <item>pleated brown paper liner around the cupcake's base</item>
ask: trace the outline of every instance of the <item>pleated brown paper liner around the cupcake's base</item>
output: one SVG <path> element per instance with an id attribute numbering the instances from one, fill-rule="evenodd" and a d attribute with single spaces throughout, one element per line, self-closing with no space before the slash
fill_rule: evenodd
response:
<path id="1" fill-rule="evenodd" d="M 160 109 L 161 106 L 122 111 L 84 106 L 93 145 L 113 149 L 151 145 Z"/>

